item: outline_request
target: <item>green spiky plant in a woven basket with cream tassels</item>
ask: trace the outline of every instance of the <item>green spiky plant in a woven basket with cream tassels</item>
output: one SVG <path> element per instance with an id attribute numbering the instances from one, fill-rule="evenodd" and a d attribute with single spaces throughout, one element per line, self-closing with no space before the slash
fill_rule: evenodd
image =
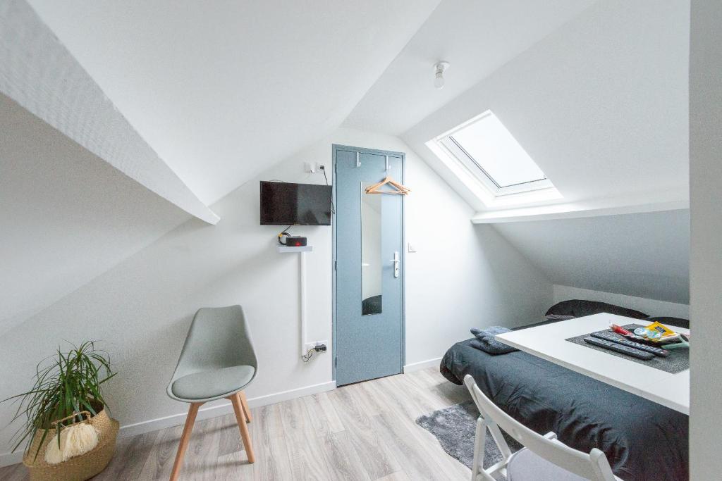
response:
<path id="1" fill-rule="evenodd" d="M 102 388 L 115 375 L 108 353 L 86 341 L 65 353 L 58 348 L 54 356 L 40 361 L 32 389 L 3 401 L 19 402 L 12 421 L 24 418 L 25 423 L 15 433 L 13 451 L 25 443 L 22 462 L 30 469 L 31 480 L 86 480 L 108 465 L 115 451 L 118 421 L 108 415 Z M 84 454 L 64 451 L 72 457 L 48 462 L 46 458 L 53 456 L 46 456 L 46 451 L 55 448 L 48 445 L 54 442 L 55 451 L 64 449 L 63 431 L 70 438 L 71 426 L 77 428 L 80 423 L 92 426 L 86 430 L 91 431 L 90 446 L 95 447 Z"/>

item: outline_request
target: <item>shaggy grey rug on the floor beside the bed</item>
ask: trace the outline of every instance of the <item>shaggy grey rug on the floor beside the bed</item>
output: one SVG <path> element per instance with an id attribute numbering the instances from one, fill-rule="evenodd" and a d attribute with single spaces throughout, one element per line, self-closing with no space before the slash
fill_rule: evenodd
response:
<path id="1" fill-rule="evenodd" d="M 449 456 L 471 469 L 471 463 L 474 462 L 474 434 L 477 429 L 477 418 L 479 418 L 477 405 L 473 401 L 467 401 L 419 416 L 416 423 L 432 433 Z M 506 433 L 503 434 L 511 451 L 521 449 L 521 445 L 513 438 L 506 436 Z M 501 452 L 497 448 L 494 438 L 487 431 L 484 445 L 484 468 L 501 460 Z"/>

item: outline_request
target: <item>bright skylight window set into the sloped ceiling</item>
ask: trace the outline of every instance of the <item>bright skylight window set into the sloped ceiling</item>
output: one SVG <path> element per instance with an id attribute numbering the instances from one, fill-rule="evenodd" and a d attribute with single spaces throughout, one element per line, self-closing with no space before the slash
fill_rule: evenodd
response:
<path id="1" fill-rule="evenodd" d="M 495 197 L 554 187 L 490 110 L 436 141 Z"/>

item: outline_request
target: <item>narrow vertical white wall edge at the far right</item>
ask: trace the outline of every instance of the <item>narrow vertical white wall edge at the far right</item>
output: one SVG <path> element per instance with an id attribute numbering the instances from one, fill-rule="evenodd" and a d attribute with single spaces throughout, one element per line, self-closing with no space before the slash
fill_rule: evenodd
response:
<path id="1" fill-rule="evenodd" d="M 722 2 L 692 0 L 690 51 L 690 298 L 695 336 L 691 351 L 690 479 L 722 472 Z"/>

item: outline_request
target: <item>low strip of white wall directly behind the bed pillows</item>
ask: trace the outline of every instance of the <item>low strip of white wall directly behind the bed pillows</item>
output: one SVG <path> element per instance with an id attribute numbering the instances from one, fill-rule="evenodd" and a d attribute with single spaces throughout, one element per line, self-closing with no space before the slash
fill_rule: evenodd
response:
<path id="1" fill-rule="evenodd" d="M 690 306 L 688 304 L 656 301 L 655 299 L 625 296 L 624 294 L 613 294 L 611 292 L 591 291 L 578 287 L 557 286 L 554 284 L 554 304 L 570 299 L 606 302 L 607 304 L 614 304 L 615 306 L 627 307 L 627 309 L 635 309 L 651 317 L 670 316 L 690 319 Z"/>

